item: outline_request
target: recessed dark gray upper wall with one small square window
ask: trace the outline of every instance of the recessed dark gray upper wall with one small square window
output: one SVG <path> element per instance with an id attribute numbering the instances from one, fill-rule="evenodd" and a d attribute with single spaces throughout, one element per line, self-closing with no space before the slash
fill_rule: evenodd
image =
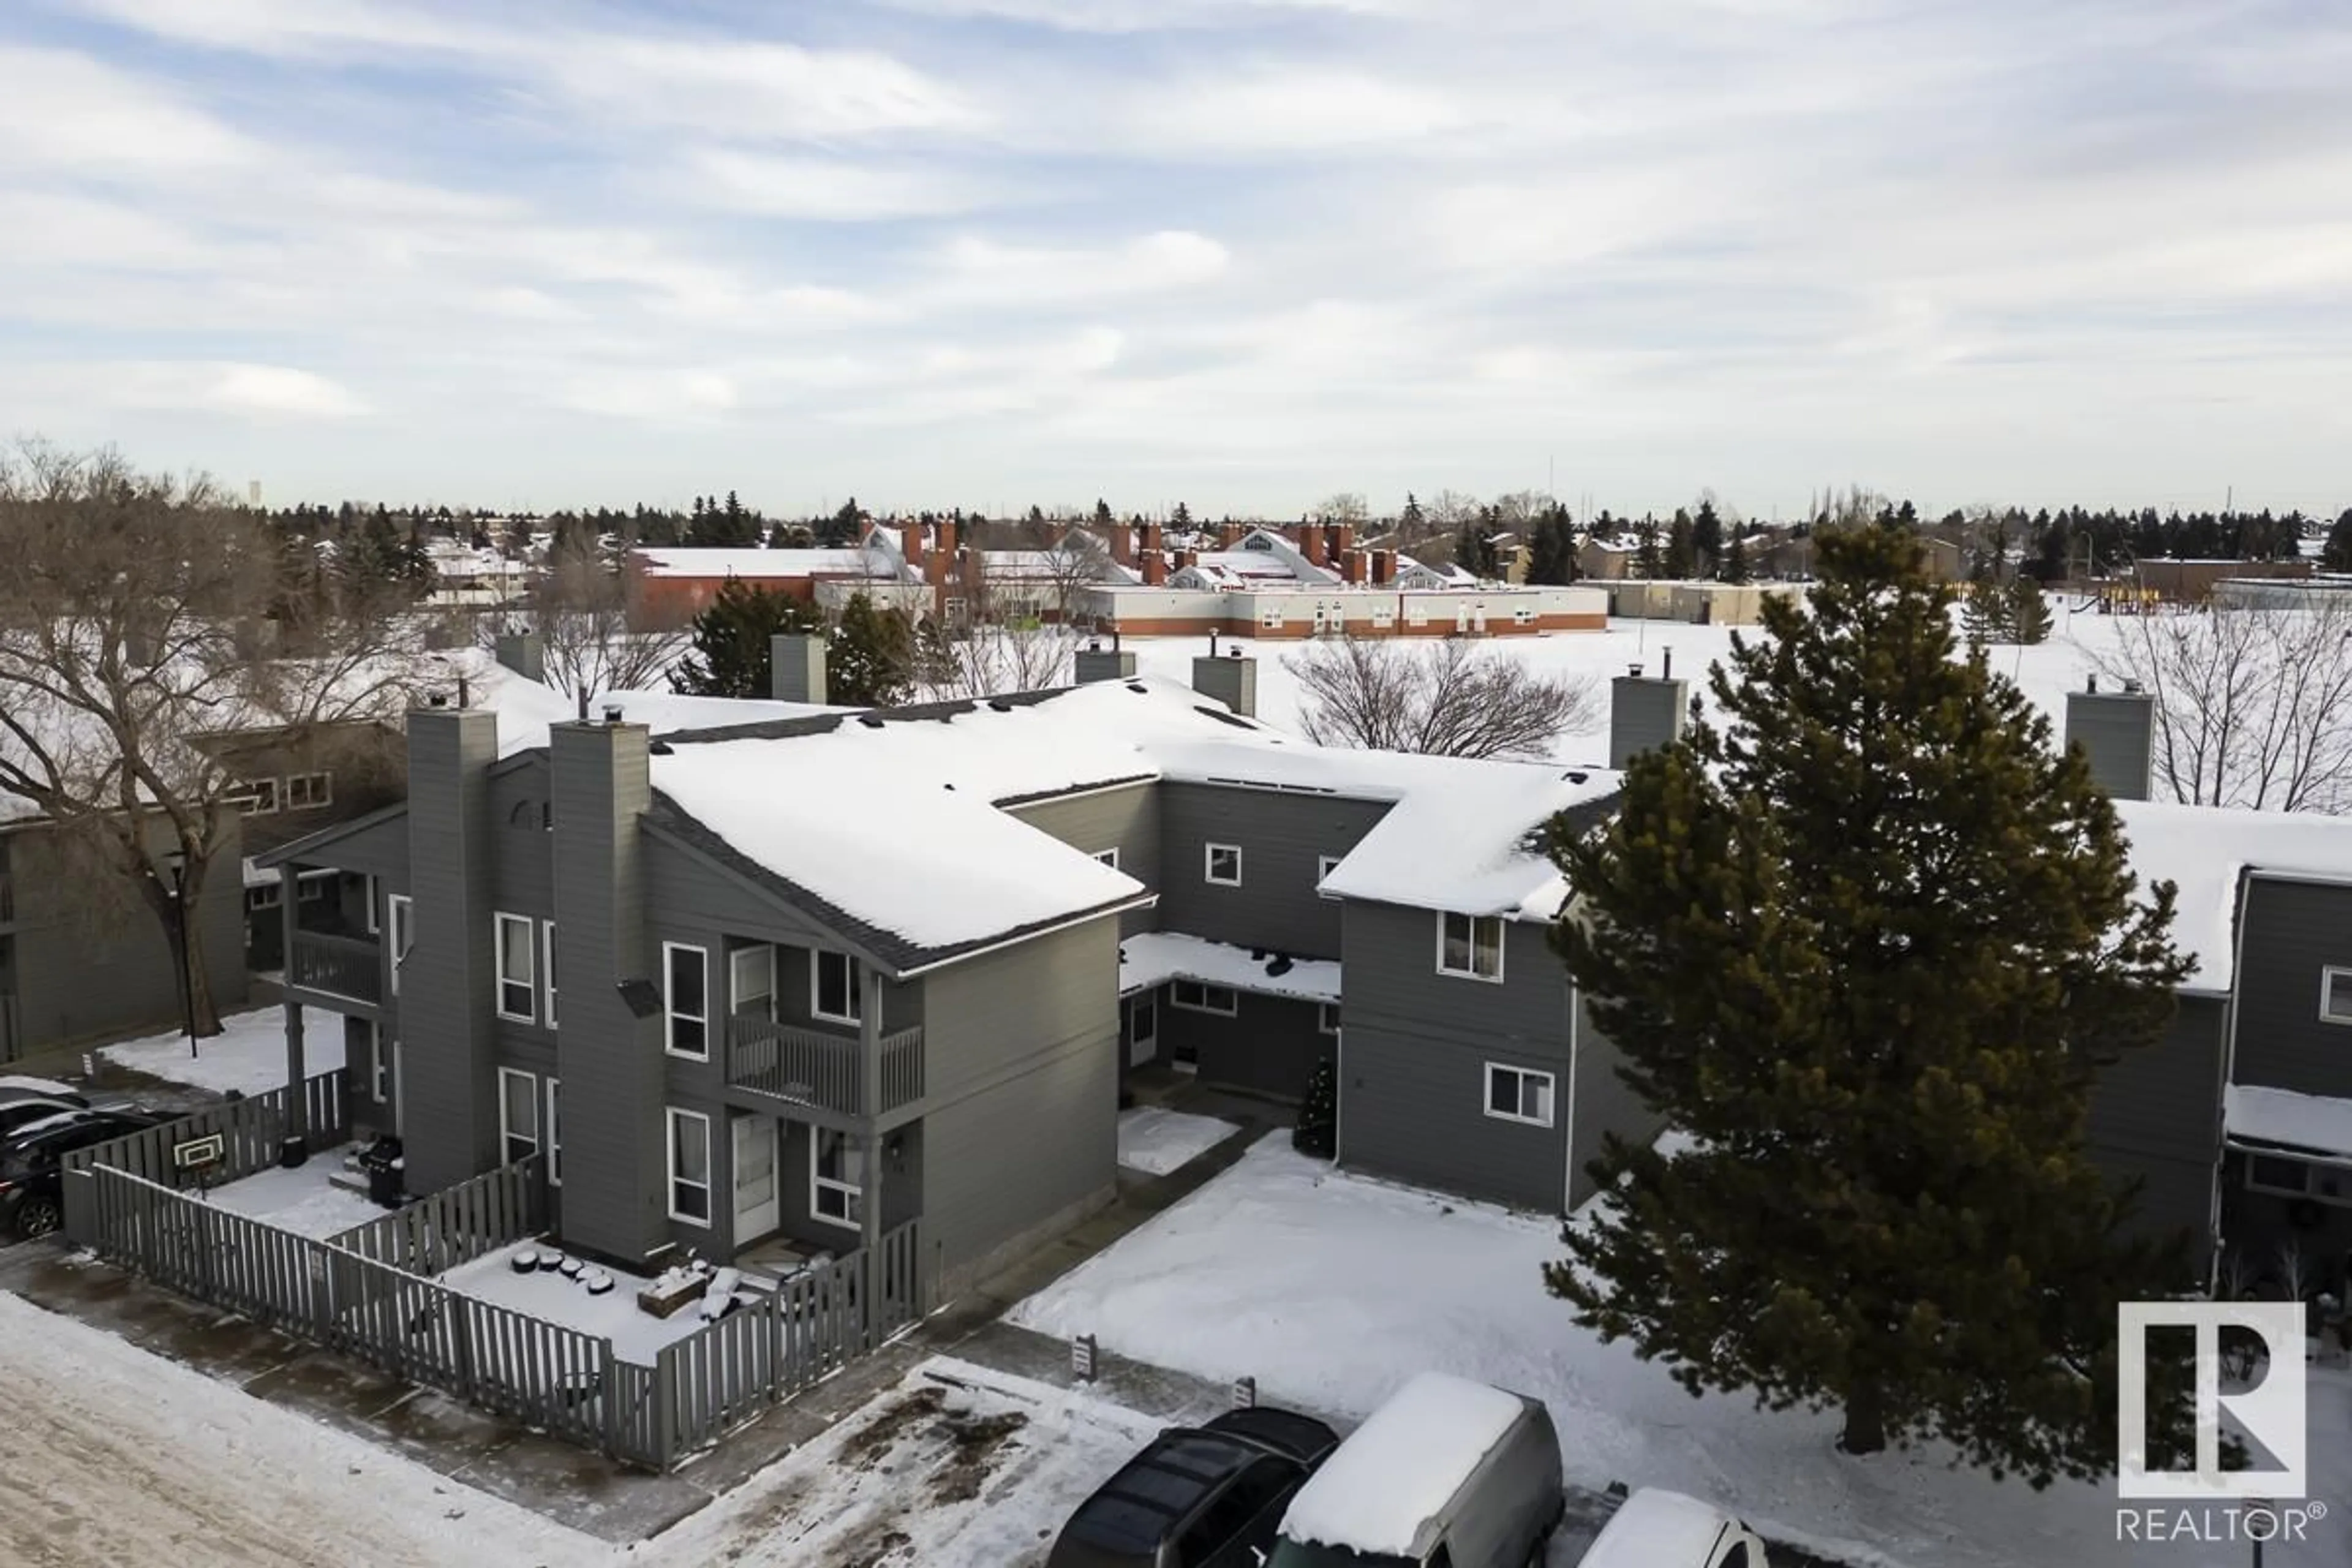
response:
<path id="1" fill-rule="evenodd" d="M 1336 959 L 1338 903 L 1315 893 L 1315 865 L 1345 856 L 1383 816 L 1381 802 L 1160 785 L 1160 929 Z M 1242 886 L 1207 879 L 1209 844 L 1242 849 Z"/>

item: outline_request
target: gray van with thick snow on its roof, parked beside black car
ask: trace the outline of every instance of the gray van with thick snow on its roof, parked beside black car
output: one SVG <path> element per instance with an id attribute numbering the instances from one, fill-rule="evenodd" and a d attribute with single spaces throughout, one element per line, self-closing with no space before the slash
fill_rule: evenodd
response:
<path id="1" fill-rule="evenodd" d="M 1298 1488 L 1270 1568 L 1524 1568 L 1562 1512 L 1541 1401 L 1421 1373 Z"/>

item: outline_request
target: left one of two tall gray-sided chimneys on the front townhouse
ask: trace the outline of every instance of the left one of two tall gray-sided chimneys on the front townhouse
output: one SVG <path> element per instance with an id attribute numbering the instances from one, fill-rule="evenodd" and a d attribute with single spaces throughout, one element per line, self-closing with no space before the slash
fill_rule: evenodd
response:
<path id="1" fill-rule="evenodd" d="M 501 1161 L 492 971 L 496 827 L 489 811 L 499 715 L 419 708 L 409 715 L 407 748 L 416 924 L 400 969 L 402 1133 L 409 1190 L 423 1194 Z"/>

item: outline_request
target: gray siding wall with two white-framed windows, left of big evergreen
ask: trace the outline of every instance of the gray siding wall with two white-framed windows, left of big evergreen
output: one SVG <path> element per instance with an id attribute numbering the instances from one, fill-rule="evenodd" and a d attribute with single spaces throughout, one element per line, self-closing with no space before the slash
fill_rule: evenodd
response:
<path id="1" fill-rule="evenodd" d="M 1557 1213 L 1569 980 L 1543 926 L 1503 926 L 1503 983 L 1437 973 L 1437 914 L 1348 900 L 1341 1164 Z M 1486 1063 L 1552 1074 L 1552 1126 L 1486 1114 Z"/>

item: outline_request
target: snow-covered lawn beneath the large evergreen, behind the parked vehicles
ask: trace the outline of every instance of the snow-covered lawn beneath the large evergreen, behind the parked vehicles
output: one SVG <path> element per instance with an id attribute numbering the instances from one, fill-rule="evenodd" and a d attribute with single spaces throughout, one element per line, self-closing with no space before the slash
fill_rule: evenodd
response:
<path id="1" fill-rule="evenodd" d="M 1853 1563 L 1903 1568 L 2105 1568 L 2237 1563 L 2114 1540 L 2110 1486 L 2034 1493 L 1938 1453 L 1849 1460 L 1837 1415 L 1691 1399 L 1632 1349 L 1576 1328 L 1545 1293 L 1555 1222 L 1338 1175 L 1282 1135 L 1108 1253 L 1021 1302 L 1011 1319 L 1204 1378 L 1256 1375 L 1268 1403 L 1359 1420 L 1423 1368 L 1541 1396 L 1569 1479 L 1665 1486 L 1740 1512 L 1769 1535 Z M 2274 1544 L 2270 1568 L 2352 1561 L 2352 1382 L 2312 1385 L 2314 1497 L 2328 1540 Z"/>

